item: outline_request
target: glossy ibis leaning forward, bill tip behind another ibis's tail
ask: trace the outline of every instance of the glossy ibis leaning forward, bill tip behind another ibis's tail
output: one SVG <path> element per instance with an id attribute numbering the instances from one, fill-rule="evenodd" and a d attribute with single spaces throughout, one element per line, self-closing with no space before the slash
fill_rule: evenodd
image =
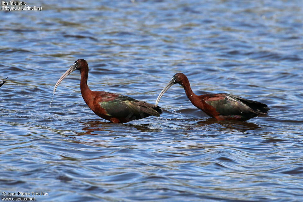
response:
<path id="1" fill-rule="evenodd" d="M 191 90 L 187 77 L 183 73 L 175 74 L 159 94 L 156 104 L 162 95 L 174 84 L 180 84 L 195 107 L 210 117 L 223 120 L 246 121 L 258 115 L 266 115 L 269 108 L 266 104 L 244 99 L 227 93 L 196 95 Z"/>

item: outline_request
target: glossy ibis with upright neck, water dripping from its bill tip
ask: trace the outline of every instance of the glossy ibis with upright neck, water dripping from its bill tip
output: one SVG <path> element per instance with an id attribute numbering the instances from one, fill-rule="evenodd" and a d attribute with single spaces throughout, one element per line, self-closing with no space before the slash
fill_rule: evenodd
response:
<path id="1" fill-rule="evenodd" d="M 89 108 L 99 117 L 114 123 L 125 123 L 145 117 L 160 116 L 161 108 L 157 105 L 135 100 L 125 95 L 92 91 L 87 85 L 88 64 L 84 59 L 78 59 L 57 81 L 54 93 L 59 83 L 71 72 L 80 70 L 80 89 L 82 97 Z"/>

